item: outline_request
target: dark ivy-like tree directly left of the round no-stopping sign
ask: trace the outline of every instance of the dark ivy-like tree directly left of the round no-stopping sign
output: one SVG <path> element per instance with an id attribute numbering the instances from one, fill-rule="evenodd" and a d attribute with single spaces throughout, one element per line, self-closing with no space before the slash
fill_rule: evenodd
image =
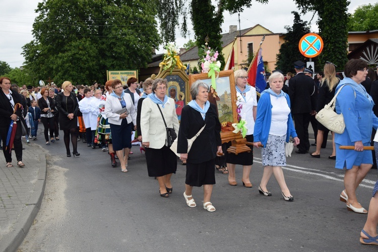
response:
<path id="1" fill-rule="evenodd" d="M 281 45 L 277 54 L 276 69 L 282 72 L 293 72 L 293 63 L 296 60 L 303 60 L 304 56 L 298 50 L 298 43 L 301 37 L 310 32 L 307 22 L 303 22 L 297 12 L 291 12 L 294 15 L 293 27 L 285 26 L 285 42 Z"/>

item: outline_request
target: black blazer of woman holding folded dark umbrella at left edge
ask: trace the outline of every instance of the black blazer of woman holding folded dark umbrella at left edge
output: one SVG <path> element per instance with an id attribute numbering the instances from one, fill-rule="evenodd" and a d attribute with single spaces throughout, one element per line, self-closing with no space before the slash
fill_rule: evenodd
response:
<path id="1" fill-rule="evenodd" d="M 16 114 L 18 116 L 21 116 L 21 114 L 23 113 L 25 117 L 28 112 L 26 110 L 25 97 L 13 91 L 12 91 L 11 96 L 15 104 L 20 103 L 24 107 L 23 111 L 18 110 L 16 111 Z M 5 93 L 0 89 L 0 127 L 4 127 L 4 128 L 9 127 L 9 124 L 11 123 L 11 115 L 13 113 L 14 113 L 14 108 L 12 107 L 11 102 L 9 101 Z"/>

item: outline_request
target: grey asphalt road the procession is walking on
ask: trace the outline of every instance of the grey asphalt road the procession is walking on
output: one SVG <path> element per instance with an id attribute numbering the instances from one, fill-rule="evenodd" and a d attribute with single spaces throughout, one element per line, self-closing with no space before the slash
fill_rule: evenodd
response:
<path id="1" fill-rule="evenodd" d="M 284 169 L 294 202 L 285 202 L 272 176 L 272 197 L 259 194 L 263 173 L 260 150 L 250 180 L 253 188 L 237 186 L 216 171 L 209 213 L 202 207 L 203 189 L 194 188 L 196 208 L 182 196 L 185 166 L 178 162 L 172 177 L 173 193 L 161 198 L 158 183 L 148 177 L 139 146 L 127 173 L 112 168 L 100 149 L 79 142 L 80 157 L 66 157 L 61 140 L 49 146 L 36 141 L 48 155 L 45 196 L 41 210 L 19 251 L 373 251 L 361 245 L 359 233 L 366 215 L 347 211 L 339 201 L 343 171 L 333 168 L 331 143 L 322 158 L 293 152 Z M 36 143 L 34 142 L 34 143 Z M 312 143 L 313 141 L 311 141 Z M 315 147 L 311 147 L 310 151 Z M 368 208 L 378 179 L 371 170 L 357 191 Z"/>

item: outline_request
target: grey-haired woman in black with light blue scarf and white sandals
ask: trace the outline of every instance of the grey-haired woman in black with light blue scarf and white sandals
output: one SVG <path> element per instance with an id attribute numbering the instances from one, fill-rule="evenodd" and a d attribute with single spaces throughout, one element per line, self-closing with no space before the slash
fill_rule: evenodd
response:
<path id="1" fill-rule="evenodd" d="M 213 184 L 215 184 L 215 157 L 222 153 L 220 138 L 221 125 L 214 104 L 208 101 L 209 86 L 196 81 L 191 87 L 192 101 L 182 108 L 180 130 L 178 132 L 177 153 L 186 161 L 186 179 L 184 198 L 186 205 L 196 207 L 192 197 L 193 186 L 204 186 L 204 209 L 214 212 L 210 202 Z M 193 138 L 204 130 L 187 153 L 187 139 Z"/>

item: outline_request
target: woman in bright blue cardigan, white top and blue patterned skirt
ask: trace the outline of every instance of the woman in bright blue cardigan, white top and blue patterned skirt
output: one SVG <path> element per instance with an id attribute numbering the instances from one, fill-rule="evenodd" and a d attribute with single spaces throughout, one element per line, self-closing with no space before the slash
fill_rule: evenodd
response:
<path id="1" fill-rule="evenodd" d="M 285 142 L 289 142 L 291 136 L 294 139 L 294 145 L 298 145 L 299 139 L 291 118 L 289 95 L 282 91 L 283 75 L 275 72 L 268 81 L 270 88 L 261 93 L 258 103 L 254 132 L 254 146 L 259 148 L 263 145 L 261 156 L 264 173 L 259 185 L 259 193 L 272 196 L 267 189 L 267 184 L 274 174 L 281 187 L 284 200 L 293 201 L 294 197 L 291 196 L 286 185 L 282 166 L 286 166 Z"/>

